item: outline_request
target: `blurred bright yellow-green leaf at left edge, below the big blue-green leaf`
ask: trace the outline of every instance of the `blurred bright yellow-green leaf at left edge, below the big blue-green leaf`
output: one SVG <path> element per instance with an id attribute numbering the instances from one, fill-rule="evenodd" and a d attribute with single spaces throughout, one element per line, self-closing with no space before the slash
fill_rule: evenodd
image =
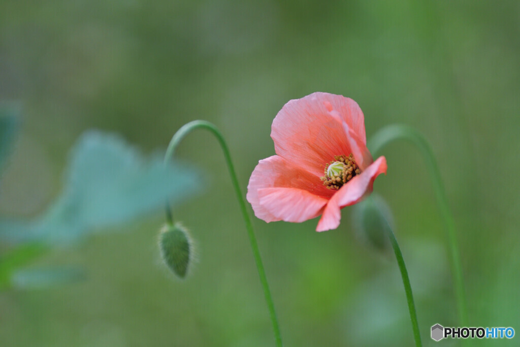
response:
<path id="1" fill-rule="evenodd" d="M 9 287 L 12 273 L 41 255 L 45 247 L 30 243 L 3 253 L 0 256 L 0 290 Z"/>

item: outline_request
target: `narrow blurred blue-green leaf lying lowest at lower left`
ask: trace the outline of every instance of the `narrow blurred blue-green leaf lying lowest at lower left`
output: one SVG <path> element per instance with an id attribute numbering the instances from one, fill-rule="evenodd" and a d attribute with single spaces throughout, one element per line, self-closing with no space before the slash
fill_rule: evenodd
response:
<path id="1" fill-rule="evenodd" d="M 11 277 L 11 285 L 19 289 L 44 289 L 65 285 L 86 278 L 85 271 L 77 267 L 24 269 Z"/>

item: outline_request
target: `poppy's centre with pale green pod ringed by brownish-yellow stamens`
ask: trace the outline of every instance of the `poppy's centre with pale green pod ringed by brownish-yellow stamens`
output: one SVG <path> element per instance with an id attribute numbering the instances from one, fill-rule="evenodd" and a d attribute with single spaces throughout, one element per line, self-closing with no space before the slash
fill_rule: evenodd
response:
<path id="1" fill-rule="evenodd" d="M 361 170 L 352 154 L 348 157 L 335 156 L 334 161 L 325 165 L 325 176 L 321 177 L 321 181 L 328 189 L 337 190 L 360 173 Z"/>

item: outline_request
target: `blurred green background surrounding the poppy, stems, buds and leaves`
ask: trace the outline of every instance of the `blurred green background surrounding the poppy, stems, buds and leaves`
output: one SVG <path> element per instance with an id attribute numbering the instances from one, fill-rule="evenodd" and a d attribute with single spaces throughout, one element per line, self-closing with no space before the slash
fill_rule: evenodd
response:
<path id="1" fill-rule="evenodd" d="M 518 18 L 516 0 L 2 1 L 0 100 L 19 102 L 23 128 L 0 215 L 43 211 L 91 128 L 151 152 L 184 123 L 209 120 L 245 192 L 257 161 L 274 154 L 270 124 L 283 104 L 342 94 L 361 106 L 368 138 L 404 123 L 430 140 L 458 227 L 470 324 L 520 331 Z M 418 151 L 395 143 L 384 155 L 388 174 L 374 191 L 393 212 L 433 345 L 430 327 L 457 319 L 445 230 Z M 197 244 L 190 277 L 175 280 L 160 262 L 161 211 L 56 248 L 32 265 L 72 263 L 87 278 L 0 292 L 2 346 L 273 344 L 216 140 L 195 133 L 178 156 L 206 174 L 203 194 L 174 211 Z M 360 241 L 352 211 L 326 233 L 317 220 L 254 220 L 287 346 L 413 344 L 393 254 Z"/>

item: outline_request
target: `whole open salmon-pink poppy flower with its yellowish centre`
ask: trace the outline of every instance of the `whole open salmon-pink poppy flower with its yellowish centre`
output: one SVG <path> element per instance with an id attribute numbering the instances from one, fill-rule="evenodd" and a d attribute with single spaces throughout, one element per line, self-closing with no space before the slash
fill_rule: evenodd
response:
<path id="1" fill-rule="evenodd" d="M 386 159 L 367 149 L 365 119 L 356 101 L 313 93 L 291 100 L 271 126 L 276 156 L 258 162 L 247 199 L 266 222 L 300 223 L 321 215 L 316 231 L 340 225 L 345 206 L 370 194 Z"/>

